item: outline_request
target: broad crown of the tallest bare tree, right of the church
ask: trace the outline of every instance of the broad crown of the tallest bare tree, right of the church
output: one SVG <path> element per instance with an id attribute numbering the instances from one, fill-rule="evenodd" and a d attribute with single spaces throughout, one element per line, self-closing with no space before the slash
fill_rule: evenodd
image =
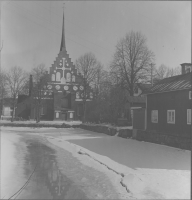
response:
<path id="1" fill-rule="evenodd" d="M 140 32 L 130 32 L 117 46 L 111 63 L 111 72 L 130 96 L 134 94 L 137 82 L 149 79 L 150 64 L 154 54 L 146 45 L 146 38 Z"/>

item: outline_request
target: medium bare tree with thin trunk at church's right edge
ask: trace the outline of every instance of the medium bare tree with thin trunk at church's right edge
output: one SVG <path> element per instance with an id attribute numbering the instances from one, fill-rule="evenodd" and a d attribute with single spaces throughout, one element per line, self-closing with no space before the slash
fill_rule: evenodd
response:
<path id="1" fill-rule="evenodd" d="M 86 53 L 76 60 L 76 67 L 83 76 L 83 122 L 86 119 L 86 101 L 89 98 L 90 87 L 94 87 L 99 80 L 98 72 L 101 64 L 92 53 Z"/>

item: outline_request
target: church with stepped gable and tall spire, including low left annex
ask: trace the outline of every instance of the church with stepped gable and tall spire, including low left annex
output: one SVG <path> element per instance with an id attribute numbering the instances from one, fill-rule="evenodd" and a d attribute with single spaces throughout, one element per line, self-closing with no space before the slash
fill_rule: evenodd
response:
<path id="1" fill-rule="evenodd" d="M 30 76 L 29 96 L 18 97 L 16 116 L 36 119 L 40 110 L 41 120 L 82 120 L 83 101 L 91 101 L 91 88 L 84 91 L 83 76 L 78 73 L 65 46 L 64 13 L 60 52 L 46 73 L 46 85 L 41 90 L 41 105 L 37 108 L 35 95 L 32 95 L 32 76 Z M 84 100 L 83 100 L 84 99 Z"/>

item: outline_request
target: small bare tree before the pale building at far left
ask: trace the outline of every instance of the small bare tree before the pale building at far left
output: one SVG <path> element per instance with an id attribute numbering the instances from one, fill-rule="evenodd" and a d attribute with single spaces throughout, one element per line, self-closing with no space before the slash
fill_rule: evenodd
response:
<path id="1" fill-rule="evenodd" d="M 26 75 L 26 72 L 22 68 L 15 66 L 15 67 L 12 67 L 9 70 L 9 72 L 6 74 L 6 80 L 7 80 L 8 90 L 12 98 L 13 112 L 12 112 L 11 121 L 13 121 L 14 114 L 15 114 L 15 107 L 17 103 L 16 102 L 17 97 L 19 94 L 23 92 L 24 86 L 27 81 L 27 75 Z"/>

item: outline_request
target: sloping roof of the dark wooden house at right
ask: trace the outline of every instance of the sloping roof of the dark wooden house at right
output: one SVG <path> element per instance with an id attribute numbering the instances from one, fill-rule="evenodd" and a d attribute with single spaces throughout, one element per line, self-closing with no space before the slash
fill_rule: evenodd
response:
<path id="1" fill-rule="evenodd" d="M 190 89 L 191 77 L 192 73 L 187 73 L 165 78 L 151 87 L 150 90 L 146 92 L 146 94 Z"/>

